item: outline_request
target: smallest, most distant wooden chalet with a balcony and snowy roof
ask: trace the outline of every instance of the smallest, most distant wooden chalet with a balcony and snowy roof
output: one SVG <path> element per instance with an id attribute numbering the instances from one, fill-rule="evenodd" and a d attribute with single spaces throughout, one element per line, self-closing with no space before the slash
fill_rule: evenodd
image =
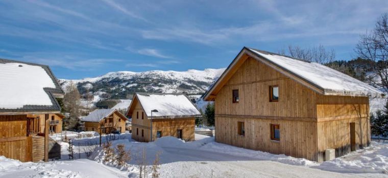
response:
<path id="1" fill-rule="evenodd" d="M 107 134 L 113 131 L 125 133 L 127 117 L 116 109 L 96 109 L 81 121 L 85 123 L 85 131 Z"/>

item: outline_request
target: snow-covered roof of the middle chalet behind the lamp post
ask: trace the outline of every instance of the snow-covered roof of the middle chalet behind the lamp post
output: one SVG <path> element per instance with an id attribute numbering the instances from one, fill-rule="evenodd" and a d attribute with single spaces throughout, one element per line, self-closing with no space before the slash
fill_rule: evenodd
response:
<path id="1" fill-rule="evenodd" d="M 135 97 L 140 102 L 148 118 L 151 118 L 151 110 L 154 109 L 158 112 L 152 113 L 153 118 L 195 117 L 201 115 L 197 107 L 184 94 L 136 93 Z"/>

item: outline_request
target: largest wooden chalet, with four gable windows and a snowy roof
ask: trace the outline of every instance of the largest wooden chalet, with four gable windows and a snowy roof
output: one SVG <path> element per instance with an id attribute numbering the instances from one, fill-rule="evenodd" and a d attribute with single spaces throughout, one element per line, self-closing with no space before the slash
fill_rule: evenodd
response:
<path id="1" fill-rule="evenodd" d="M 382 95 L 321 64 L 244 47 L 204 100 L 215 103 L 216 142 L 325 161 L 370 144 L 369 97 Z"/>

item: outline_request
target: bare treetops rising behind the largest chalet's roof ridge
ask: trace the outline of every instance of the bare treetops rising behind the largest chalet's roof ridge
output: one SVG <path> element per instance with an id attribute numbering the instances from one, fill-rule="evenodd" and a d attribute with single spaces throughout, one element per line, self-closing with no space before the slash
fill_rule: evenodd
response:
<path id="1" fill-rule="evenodd" d="M 335 60 L 334 49 L 326 49 L 323 45 L 310 48 L 301 48 L 300 46 L 288 45 L 287 52 L 286 50 L 281 49 L 279 53 L 320 64 L 327 64 Z"/>

